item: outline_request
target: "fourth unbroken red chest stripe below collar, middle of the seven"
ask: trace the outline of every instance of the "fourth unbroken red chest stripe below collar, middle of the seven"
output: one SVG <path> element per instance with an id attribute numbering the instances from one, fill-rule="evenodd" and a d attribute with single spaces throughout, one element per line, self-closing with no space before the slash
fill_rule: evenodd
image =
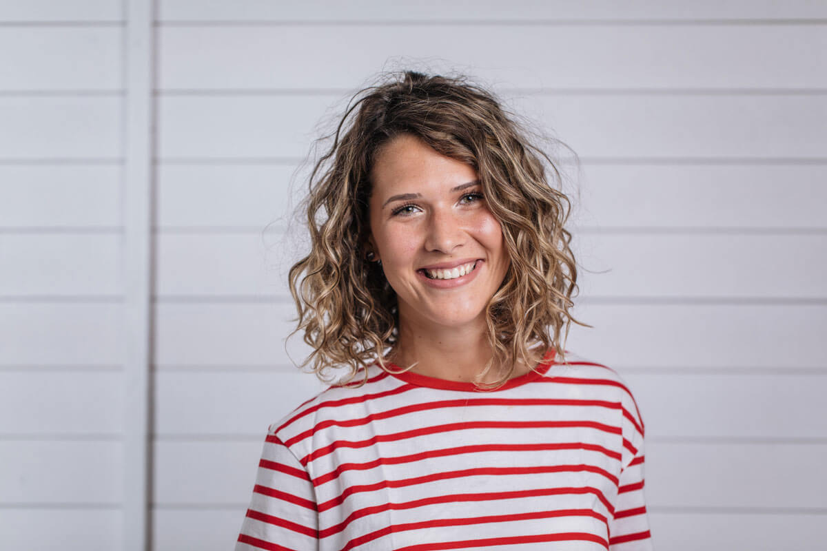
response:
<path id="1" fill-rule="evenodd" d="M 341 505 L 349 496 L 361 492 L 373 492 L 382 488 L 401 488 L 406 486 L 416 486 L 418 484 L 425 484 L 428 482 L 436 482 L 437 480 L 451 480 L 452 478 L 462 477 L 479 477 L 479 476 L 509 476 L 520 474 L 538 474 L 538 473 L 595 473 L 600 474 L 609 479 L 615 486 L 618 484 L 618 479 L 613 474 L 608 473 L 602 468 L 594 465 L 549 465 L 540 467 L 478 467 L 466 468 L 458 471 L 446 471 L 444 473 L 425 474 L 420 477 L 403 478 L 400 480 L 381 480 L 373 484 L 357 484 L 345 488 L 338 496 L 324 501 L 318 505 L 318 511 L 323 512 L 332 507 Z"/>

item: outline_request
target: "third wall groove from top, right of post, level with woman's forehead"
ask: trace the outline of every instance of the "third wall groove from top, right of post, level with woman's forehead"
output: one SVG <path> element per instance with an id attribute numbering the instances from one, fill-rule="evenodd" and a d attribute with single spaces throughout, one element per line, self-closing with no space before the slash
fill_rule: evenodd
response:
<path id="1" fill-rule="evenodd" d="M 155 164 L 266 164 L 266 165 L 289 165 L 294 166 L 304 162 L 304 157 L 155 157 Z M 561 164 L 569 164 L 571 161 L 561 159 Z M 583 165 L 645 165 L 654 164 L 657 166 L 801 166 L 801 165 L 822 165 L 827 164 L 827 157 L 581 157 Z M 2 164 L 2 161 L 0 161 Z"/>

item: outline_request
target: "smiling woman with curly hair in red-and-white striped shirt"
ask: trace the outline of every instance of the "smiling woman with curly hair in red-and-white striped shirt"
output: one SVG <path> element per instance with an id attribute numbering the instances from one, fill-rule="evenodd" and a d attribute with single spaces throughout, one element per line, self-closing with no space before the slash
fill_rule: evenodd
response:
<path id="1" fill-rule="evenodd" d="M 290 270 L 307 363 L 347 376 L 270 426 L 236 549 L 651 549 L 633 397 L 563 355 L 576 264 L 547 178 L 461 79 L 357 94 Z"/>

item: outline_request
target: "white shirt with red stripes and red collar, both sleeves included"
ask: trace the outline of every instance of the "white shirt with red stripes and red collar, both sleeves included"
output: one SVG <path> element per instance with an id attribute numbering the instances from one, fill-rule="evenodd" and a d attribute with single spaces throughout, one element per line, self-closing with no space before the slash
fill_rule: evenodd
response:
<path id="1" fill-rule="evenodd" d="M 552 350 L 494 392 L 367 376 L 270 425 L 237 551 L 652 549 L 643 421 L 611 369 Z"/>

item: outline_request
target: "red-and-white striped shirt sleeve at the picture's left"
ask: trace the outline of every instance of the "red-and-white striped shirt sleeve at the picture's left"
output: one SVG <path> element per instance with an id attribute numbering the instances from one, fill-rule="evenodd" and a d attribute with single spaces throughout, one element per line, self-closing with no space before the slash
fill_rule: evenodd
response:
<path id="1" fill-rule="evenodd" d="M 236 551 L 317 551 L 317 511 L 307 470 L 269 431 Z"/>

